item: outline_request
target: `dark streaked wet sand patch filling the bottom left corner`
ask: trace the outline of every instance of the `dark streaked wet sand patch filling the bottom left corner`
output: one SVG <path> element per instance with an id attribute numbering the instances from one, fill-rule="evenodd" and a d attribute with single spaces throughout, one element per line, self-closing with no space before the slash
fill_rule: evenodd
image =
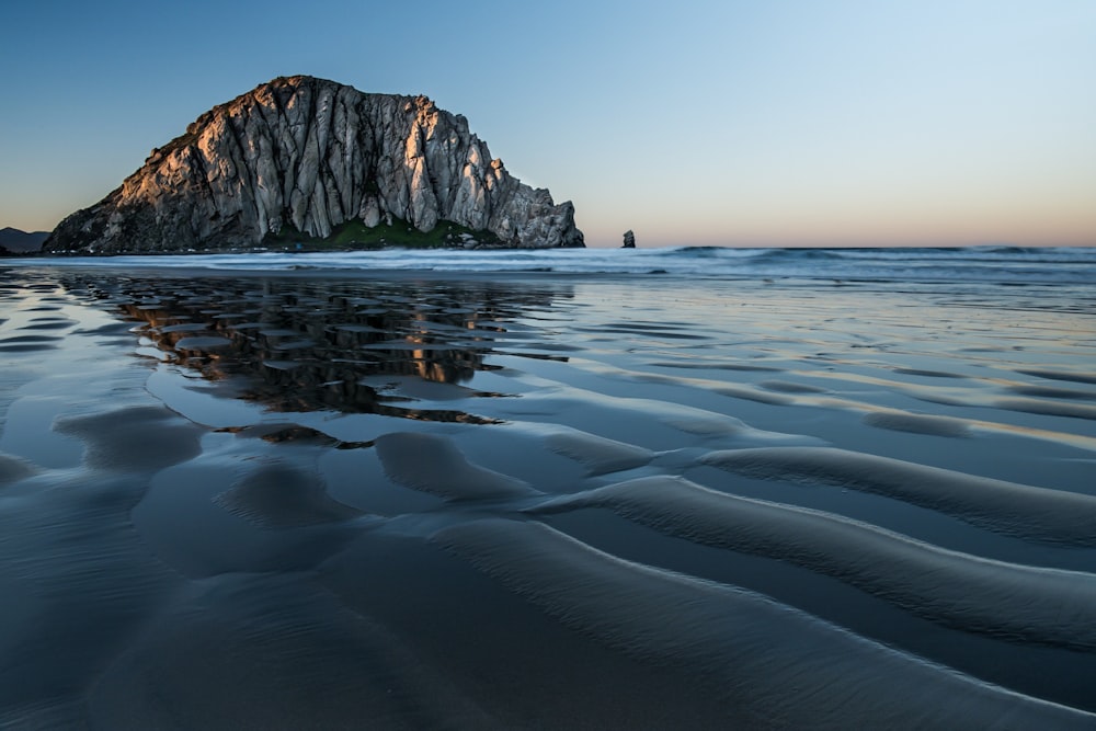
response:
<path id="1" fill-rule="evenodd" d="M 0 728 L 89 728 L 83 694 L 178 587 L 130 523 L 144 489 L 82 473 L 3 501 Z"/>

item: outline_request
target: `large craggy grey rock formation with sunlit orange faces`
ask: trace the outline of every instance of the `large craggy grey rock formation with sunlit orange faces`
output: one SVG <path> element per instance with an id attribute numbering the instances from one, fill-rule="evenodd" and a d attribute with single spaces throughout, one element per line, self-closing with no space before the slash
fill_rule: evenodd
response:
<path id="1" fill-rule="evenodd" d="M 203 114 L 61 221 L 44 250 L 251 248 L 271 235 L 328 237 L 355 219 L 424 232 L 452 221 L 511 247 L 583 245 L 571 203 L 510 175 L 464 116 L 425 96 L 293 77 Z"/>

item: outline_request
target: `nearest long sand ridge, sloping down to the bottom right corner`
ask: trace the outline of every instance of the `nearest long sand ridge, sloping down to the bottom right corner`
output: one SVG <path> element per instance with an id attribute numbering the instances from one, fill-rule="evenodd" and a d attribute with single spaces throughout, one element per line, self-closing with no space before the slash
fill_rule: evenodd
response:
<path id="1" fill-rule="evenodd" d="M 1096 716 L 943 670 L 752 592 L 624 561 L 539 523 L 478 521 L 433 539 L 613 648 L 700 670 L 713 693 L 742 709 L 747 727 L 840 728 L 849 719 L 891 729 L 1096 723 Z"/>

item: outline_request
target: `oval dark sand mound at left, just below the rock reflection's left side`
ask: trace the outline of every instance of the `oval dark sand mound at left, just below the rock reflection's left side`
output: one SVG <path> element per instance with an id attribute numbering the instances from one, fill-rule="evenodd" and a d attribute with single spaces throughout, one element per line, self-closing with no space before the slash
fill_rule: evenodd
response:
<path id="1" fill-rule="evenodd" d="M 202 453 L 205 430 L 162 407 L 133 407 L 57 420 L 55 429 L 87 445 L 88 467 L 155 471 Z"/>

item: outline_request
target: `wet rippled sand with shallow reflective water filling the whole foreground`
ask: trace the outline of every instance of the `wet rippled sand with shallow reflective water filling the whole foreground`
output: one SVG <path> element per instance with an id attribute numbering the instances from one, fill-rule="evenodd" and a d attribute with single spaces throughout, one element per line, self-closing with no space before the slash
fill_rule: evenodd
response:
<path id="1" fill-rule="evenodd" d="M 1083 285 L 0 271 L 0 728 L 1093 728 Z"/>

